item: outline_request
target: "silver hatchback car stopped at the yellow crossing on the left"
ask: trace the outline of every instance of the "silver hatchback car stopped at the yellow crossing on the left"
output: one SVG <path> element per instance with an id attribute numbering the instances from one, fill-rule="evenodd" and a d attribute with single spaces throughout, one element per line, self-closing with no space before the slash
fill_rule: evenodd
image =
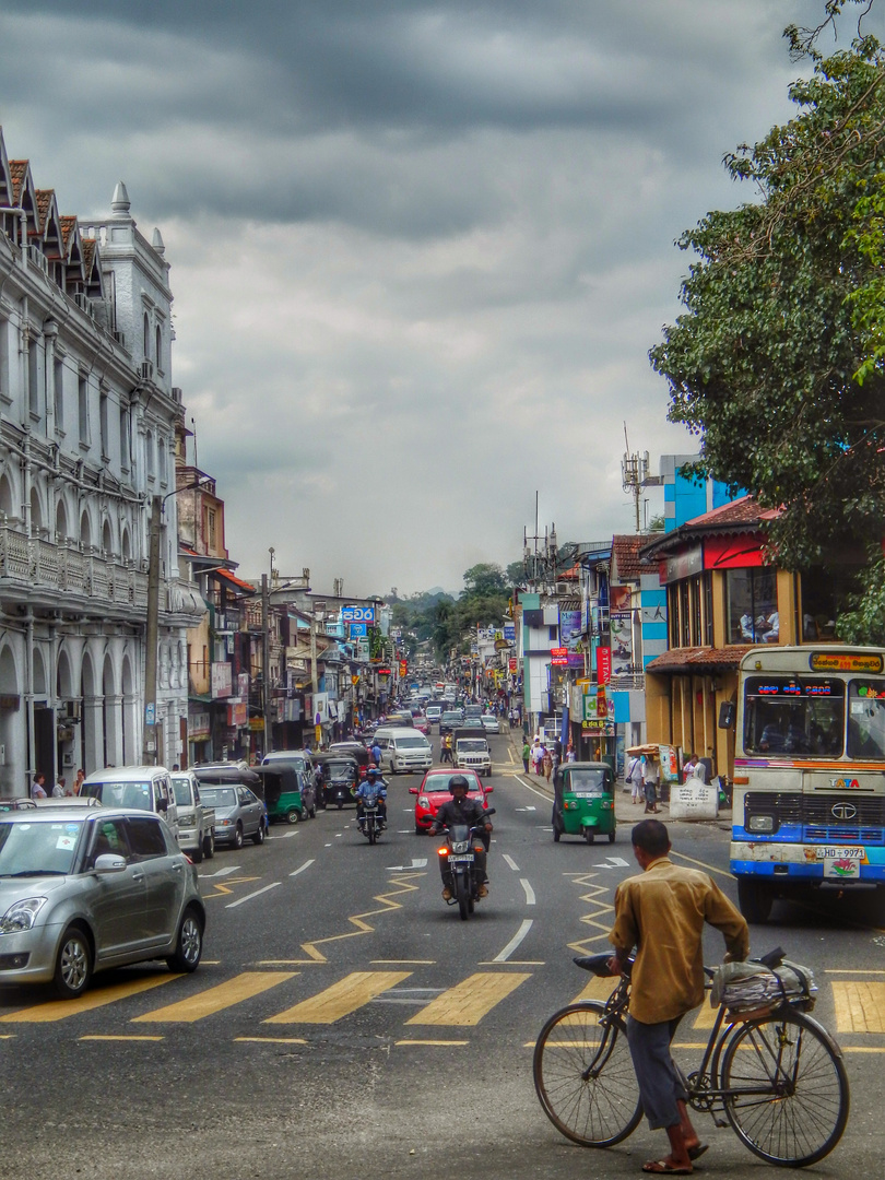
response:
<path id="1" fill-rule="evenodd" d="M 144 959 L 195 971 L 197 870 L 158 815 L 41 807 L 0 814 L 0 985 L 80 996 L 93 971 Z"/>

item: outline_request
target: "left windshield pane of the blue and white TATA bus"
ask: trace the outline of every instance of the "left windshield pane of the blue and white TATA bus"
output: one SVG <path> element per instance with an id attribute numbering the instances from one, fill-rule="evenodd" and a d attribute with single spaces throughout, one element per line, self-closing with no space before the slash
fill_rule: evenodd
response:
<path id="1" fill-rule="evenodd" d="M 747 677 L 743 748 L 748 754 L 840 758 L 845 749 L 845 683 L 835 677 Z"/>

